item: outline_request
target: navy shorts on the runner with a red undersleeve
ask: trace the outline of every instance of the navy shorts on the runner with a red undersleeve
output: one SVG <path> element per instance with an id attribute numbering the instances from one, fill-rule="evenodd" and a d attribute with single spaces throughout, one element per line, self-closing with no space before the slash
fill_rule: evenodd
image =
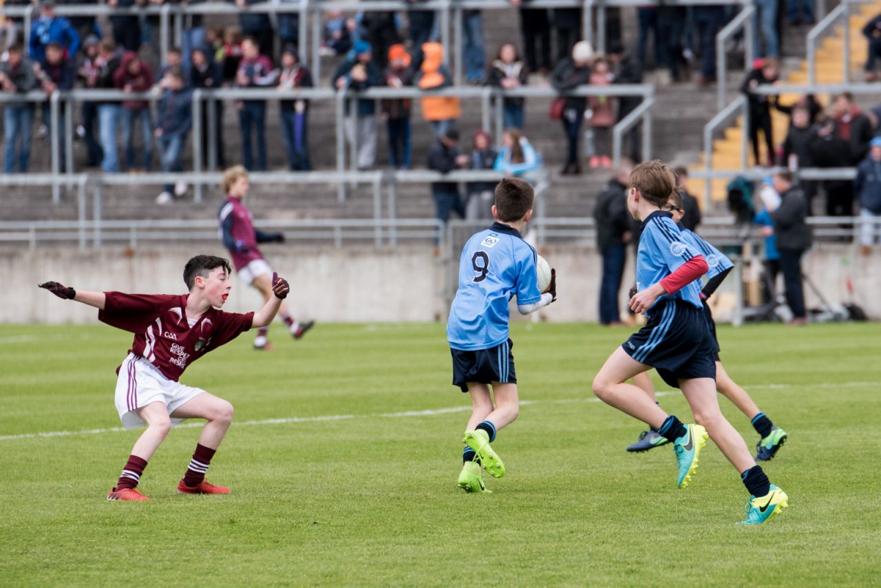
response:
<path id="1" fill-rule="evenodd" d="M 679 380 L 715 379 L 716 347 L 707 317 L 702 309 L 677 298 L 656 305 L 646 326 L 621 347 L 634 360 L 657 369 L 673 388 L 679 387 Z"/>

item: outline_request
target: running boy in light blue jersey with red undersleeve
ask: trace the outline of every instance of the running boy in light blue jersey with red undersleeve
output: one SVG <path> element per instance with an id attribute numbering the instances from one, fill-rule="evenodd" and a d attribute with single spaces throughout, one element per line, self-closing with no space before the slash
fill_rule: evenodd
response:
<path id="1" fill-rule="evenodd" d="M 765 523 L 788 506 L 788 496 L 768 480 L 752 459 L 744 438 L 722 415 L 715 391 L 715 347 L 703 316 L 700 288 L 706 259 L 685 241 L 672 213 L 664 211 L 676 189 L 676 177 L 659 160 L 633 169 L 627 188 L 627 208 L 642 221 L 637 254 L 638 292 L 630 299 L 633 312 L 645 313 L 648 323 L 614 353 L 593 382 L 597 398 L 633 416 L 668 439 L 678 465 L 677 488 L 685 488 L 698 467 L 707 435 L 741 474 L 751 496 L 747 525 Z M 626 383 L 650 368 L 664 382 L 682 390 L 696 424 L 685 425 Z"/>

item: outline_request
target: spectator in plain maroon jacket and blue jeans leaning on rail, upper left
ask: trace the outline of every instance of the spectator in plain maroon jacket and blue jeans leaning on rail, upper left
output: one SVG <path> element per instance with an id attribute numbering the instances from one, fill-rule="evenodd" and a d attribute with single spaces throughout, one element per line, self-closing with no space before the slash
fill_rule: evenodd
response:
<path id="1" fill-rule="evenodd" d="M 122 55 L 122 63 L 114 73 L 114 85 L 124 93 L 147 92 L 153 86 L 153 73 L 150 66 L 142 62 L 134 51 Z M 153 122 L 150 115 L 150 102 L 147 100 L 125 100 L 122 102 L 122 145 L 125 145 L 125 167 L 135 171 L 135 123 L 141 125 L 144 138 L 144 171 L 150 171 L 153 160 Z"/>

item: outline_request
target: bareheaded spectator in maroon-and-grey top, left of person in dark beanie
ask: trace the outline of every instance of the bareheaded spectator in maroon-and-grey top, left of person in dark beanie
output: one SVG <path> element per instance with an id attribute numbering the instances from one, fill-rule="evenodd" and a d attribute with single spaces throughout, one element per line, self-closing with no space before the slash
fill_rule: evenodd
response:
<path id="1" fill-rule="evenodd" d="M 266 88 L 275 85 L 276 76 L 270 58 L 261 55 L 257 41 L 246 37 L 241 42 L 241 62 L 235 74 L 236 85 L 240 88 Z M 241 100 L 239 108 L 239 128 L 241 129 L 242 159 L 248 170 L 266 170 L 266 100 Z M 251 130 L 255 132 L 257 143 L 256 165 L 251 154 Z"/>

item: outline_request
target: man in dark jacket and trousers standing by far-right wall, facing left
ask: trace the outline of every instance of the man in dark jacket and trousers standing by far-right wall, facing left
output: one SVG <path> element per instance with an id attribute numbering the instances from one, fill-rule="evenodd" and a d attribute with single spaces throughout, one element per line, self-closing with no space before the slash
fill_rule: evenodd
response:
<path id="1" fill-rule="evenodd" d="M 811 227 L 805 222 L 807 201 L 802 190 L 793 187 L 788 171 L 774 174 L 774 190 L 781 195 L 781 203 L 771 212 L 772 230 L 777 234 L 786 302 L 793 314 L 791 324 L 807 324 L 802 287 L 802 255 L 811 247 Z"/>

